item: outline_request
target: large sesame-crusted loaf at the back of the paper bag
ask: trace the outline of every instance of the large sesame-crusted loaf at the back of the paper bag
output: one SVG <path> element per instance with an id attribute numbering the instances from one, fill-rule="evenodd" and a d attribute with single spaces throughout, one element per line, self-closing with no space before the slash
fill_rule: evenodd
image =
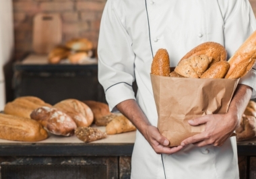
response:
<path id="1" fill-rule="evenodd" d="M 212 57 L 210 66 L 218 61 L 226 61 L 227 58 L 227 52 L 224 46 L 216 42 L 204 42 L 187 52 L 181 61 L 198 55 L 207 55 L 208 57 Z"/>

